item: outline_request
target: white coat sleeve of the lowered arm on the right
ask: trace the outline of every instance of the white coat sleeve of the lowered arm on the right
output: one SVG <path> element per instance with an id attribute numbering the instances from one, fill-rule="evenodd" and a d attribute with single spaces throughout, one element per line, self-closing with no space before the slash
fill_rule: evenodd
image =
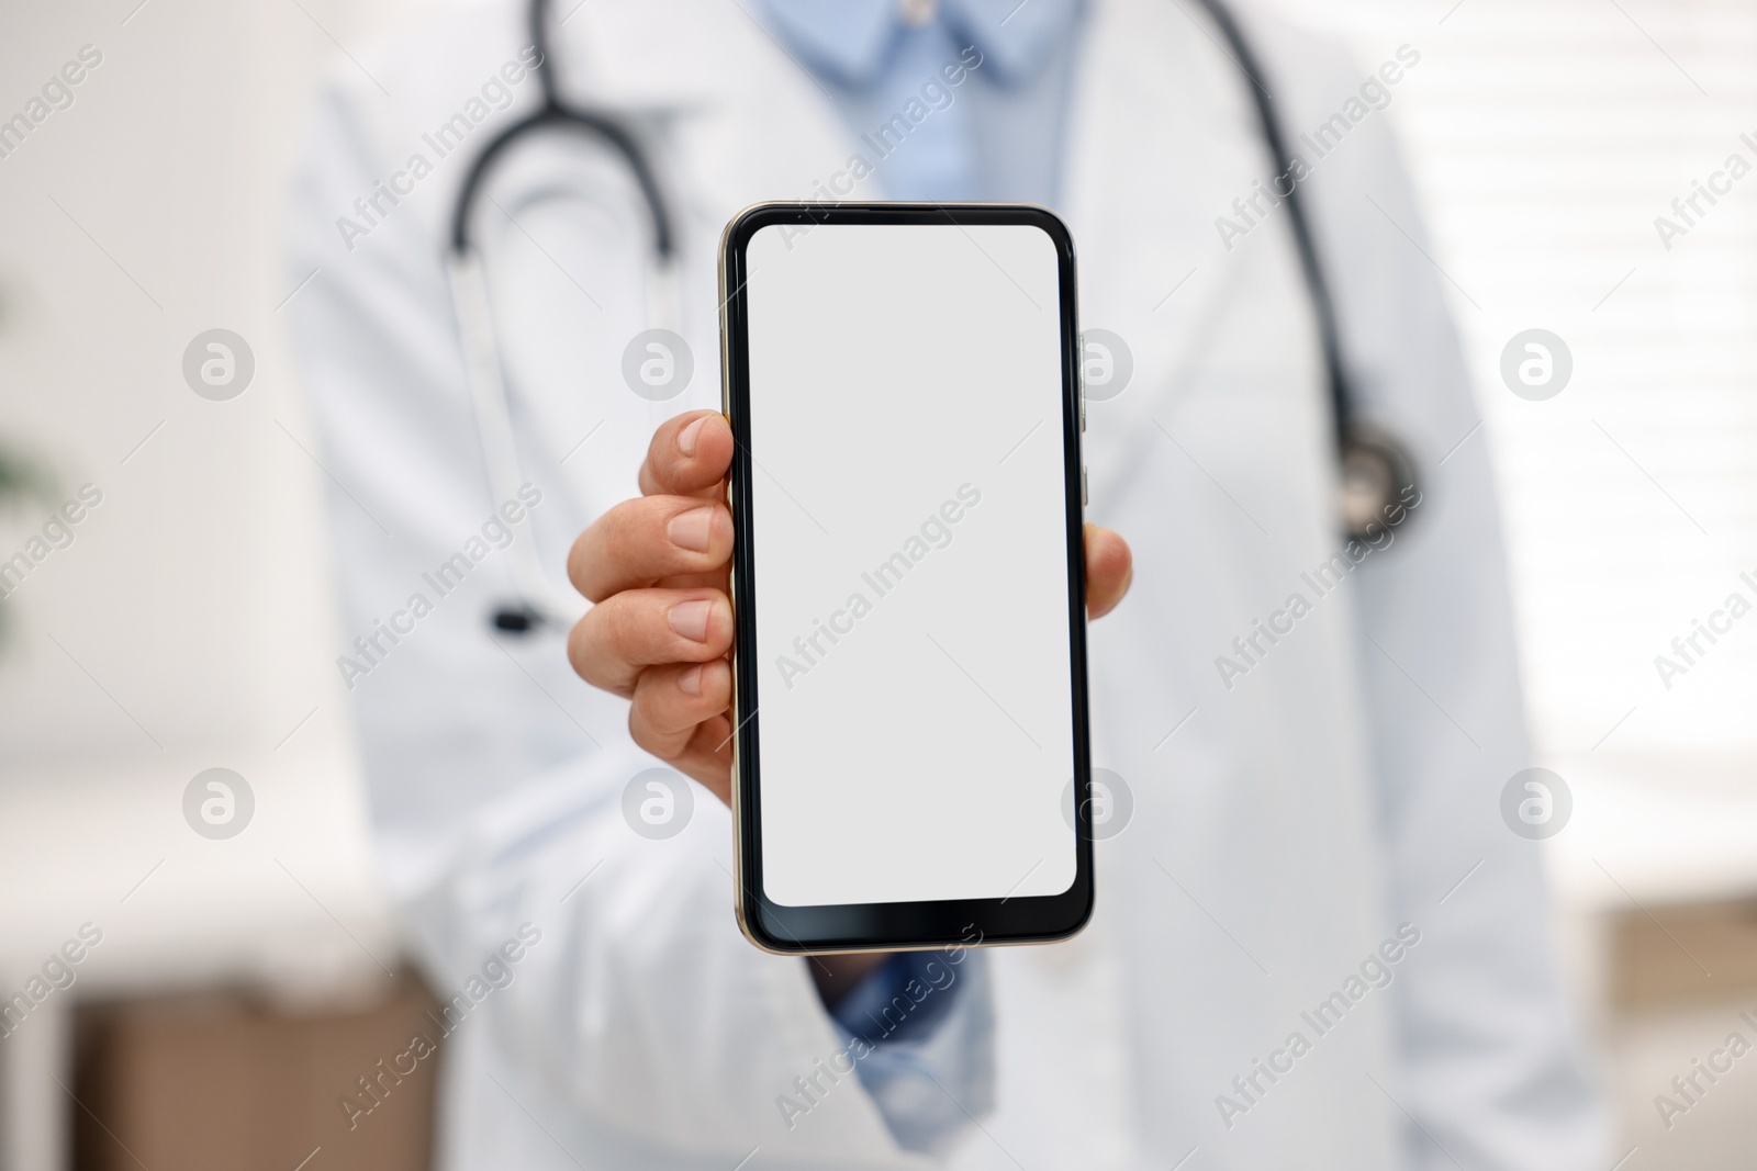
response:
<path id="1" fill-rule="evenodd" d="M 1393 53 L 1386 53 L 1393 58 Z M 1304 190 L 1339 307 L 1356 400 L 1411 448 L 1421 504 L 1395 551 L 1362 569 L 1358 658 L 1397 922 L 1421 932 L 1395 985 L 1399 1104 L 1411 1166 L 1495 1171 L 1609 1166 L 1599 1094 L 1555 957 L 1541 846 L 1500 820 L 1500 790 L 1537 764 L 1525 739 L 1508 562 L 1479 406 L 1451 309 L 1481 313 L 1442 270 L 1390 132 L 1423 83 L 1402 46 L 1400 84 Z M 1283 37 L 1277 84 L 1293 149 L 1372 68 Z M 1279 97 L 1279 95 L 1277 95 Z M 1369 107 L 1376 102 L 1356 102 Z M 1444 901 L 1442 901 L 1444 899 Z"/>

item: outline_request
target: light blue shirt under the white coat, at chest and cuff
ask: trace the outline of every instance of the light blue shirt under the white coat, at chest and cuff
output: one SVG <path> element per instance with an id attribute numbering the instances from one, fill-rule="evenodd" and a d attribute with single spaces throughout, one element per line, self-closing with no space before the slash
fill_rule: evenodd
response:
<path id="1" fill-rule="evenodd" d="M 831 95 L 886 198 L 1059 197 L 1082 0 L 763 0 Z M 910 21 L 905 9 L 921 16 Z M 898 1145 L 945 1152 L 987 1111 L 994 1015 L 980 952 L 903 952 L 831 1009 Z"/>

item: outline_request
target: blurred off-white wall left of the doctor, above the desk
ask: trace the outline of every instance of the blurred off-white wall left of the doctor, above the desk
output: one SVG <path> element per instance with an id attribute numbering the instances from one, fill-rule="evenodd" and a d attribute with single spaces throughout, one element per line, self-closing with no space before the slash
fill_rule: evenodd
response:
<path id="1" fill-rule="evenodd" d="M 130 18 L 137 4 L 0 16 L 0 116 L 81 46 L 102 53 L 74 105 L 0 160 L 0 442 L 46 458 L 69 495 L 104 490 L 74 548 L 5 602 L 14 767 L 272 746 L 334 672 L 315 671 L 320 472 L 276 314 L 295 284 L 279 219 L 336 54 L 323 30 L 360 37 L 390 4 L 149 0 Z M 257 356 L 232 402 L 181 374 L 214 327 Z M 306 732 L 334 736 L 336 715 Z"/>

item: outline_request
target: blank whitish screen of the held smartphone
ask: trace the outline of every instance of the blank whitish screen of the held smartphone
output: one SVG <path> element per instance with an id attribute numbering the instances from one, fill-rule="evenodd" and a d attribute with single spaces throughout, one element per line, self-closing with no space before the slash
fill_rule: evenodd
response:
<path id="1" fill-rule="evenodd" d="M 766 894 L 803 906 L 1066 890 L 1054 244 L 1001 225 L 771 226 L 748 265 Z M 961 485 L 980 502 L 949 525 L 951 544 L 878 597 L 861 572 Z M 798 660 L 792 639 L 854 592 L 873 611 L 838 644 L 821 639 L 828 655 L 785 686 L 777 657 Z"/>

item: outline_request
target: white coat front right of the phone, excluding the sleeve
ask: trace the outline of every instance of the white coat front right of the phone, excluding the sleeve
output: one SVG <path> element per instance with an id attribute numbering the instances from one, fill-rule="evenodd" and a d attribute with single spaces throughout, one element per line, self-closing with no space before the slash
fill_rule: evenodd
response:
<path id="1" fill-rule="evenodd" d="M 1105 1059 L 1079 1057 L 1084 1104 L 1153 1157 L 1200 1145 L 1223 1167 L 1383 1167 L 1390 1125 L 1290 1145 L 1335 1134 L 1305 1125 L 1325 1111 L 1370 1115 L 1341 1081 L 1276 1090 L 1265 1111 L 1279 1125 L 1228 1132 L 1214 1106 L 1379 927 L 1365 911 L 1377 876 L 1348 597 L 1242 685 L 1225 688 L 1214 667 L 1339 541 L 1316 330 L 1284 218 L 1232 251 L 1214 228 L 1269 174 L 1253 83 L 1188 5 L 1100 0 L 1084 35 L 1063 179 L 1082 328 L 1121 335 L 1135 367 L 1088 407 L 1091 516 L 1126 532 L 1137 558 L 1132 597 L 1091 630 L 1093 764 L 1132 787 L 1133 820 L 1098 843 L 1091 938 L 1003 957 L 998 995 L 1089 1017 Z M 1070 962 L 1103 992 L 1054 995 L 1074 976 L 1052 967 Z M 1160 973 L 1153 987 L 1132 981 L 1142 971 Z M 1377 1022 L 1349 1024 L 1327 1060 L 1379 1067 Z M 1130 1057 L 1126 1031 L 1177 1038 L 1177 1060 Z M 1009 1069 L 1044 1071 L 1023 1097 L 1074 1088 L 1052 1073 L 1072 1057 L 1009 1041 L 1021 1050 Z M 1052 1129 L 1005 1113 L 1010 1101 L 989 1129 L 1052 1148 Z"/>

